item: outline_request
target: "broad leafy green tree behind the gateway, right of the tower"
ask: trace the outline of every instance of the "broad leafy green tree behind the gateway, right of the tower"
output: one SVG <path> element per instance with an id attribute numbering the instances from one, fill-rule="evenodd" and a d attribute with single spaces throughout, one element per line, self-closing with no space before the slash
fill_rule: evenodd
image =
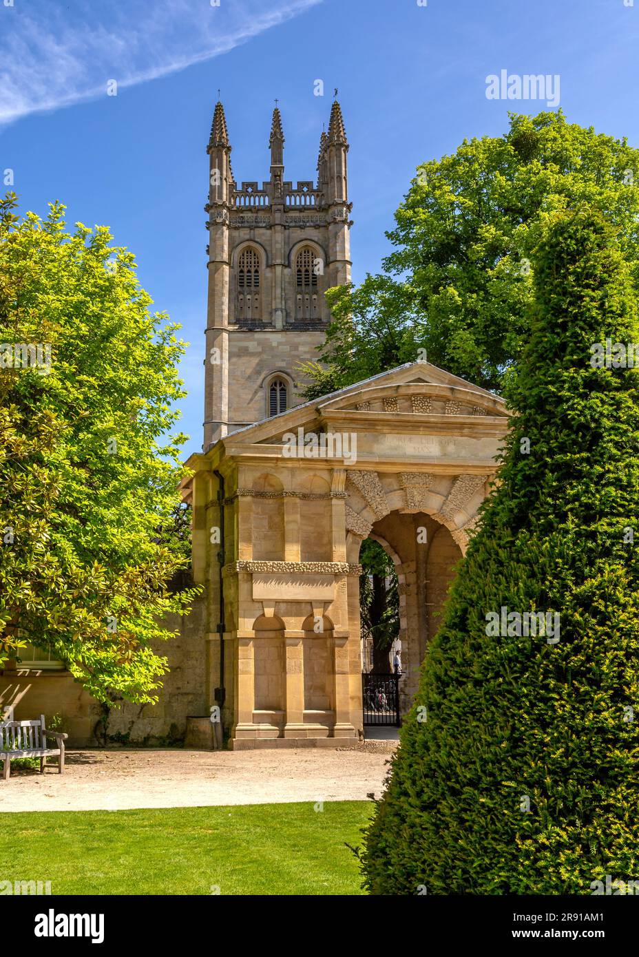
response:
<path id="1" fill-rule="evenodd" d="M 316 398 L 423 358 L 500 390 L 528 337 L 532 249 L 554 211 L 587 202 L 619 228 L 639 278 L 639 151 L 566 121 L 511 115 L 499 137 L 464 141 L 418 167 L 387 234 L 385 274 L 327 295 L 333 315 L 302 392 Z M 330 386 L 330 389 L 326 389 Z"/>

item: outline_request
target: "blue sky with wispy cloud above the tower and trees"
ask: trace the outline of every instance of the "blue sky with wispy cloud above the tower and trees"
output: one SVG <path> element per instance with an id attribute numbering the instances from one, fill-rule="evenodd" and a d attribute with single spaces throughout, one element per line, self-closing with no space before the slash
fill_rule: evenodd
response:
<path id="1" fill-rule="evenodd" d="M 630 0 L 626 0 L 628 4 Z M 207 156 L 221 89 L 238 181 L 268 179 L 275 98 L 286 178 L 315 176 L 333 88 L 350 142 L 353 278 L 380 269 L 415 167 L 498 135 L 486 77 L 559 74 L 569 120 L 639 145 L 639 0 L 0 0 L 0 176 L 23 211 L 59 199 L 110 226 L 190 342 L 185 454 L 202 443 Z M 314 96 L 314 81 L 324 96 Z M 107 81 L 118 95 L 106 95 Z"/>

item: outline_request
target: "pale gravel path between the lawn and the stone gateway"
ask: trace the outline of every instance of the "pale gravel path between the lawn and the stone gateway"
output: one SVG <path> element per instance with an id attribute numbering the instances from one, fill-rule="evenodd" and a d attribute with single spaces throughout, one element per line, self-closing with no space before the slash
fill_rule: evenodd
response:
<path id="1" fill-rule="evenodd" d="M 0 779 L 0 812 L 119 811 L 380 795 L 396 743 L 353 749 L 258 751 L 73 750 L 64 774 L 13 768 Z M 50 759 L 55 761 L 55 759 Z"/>

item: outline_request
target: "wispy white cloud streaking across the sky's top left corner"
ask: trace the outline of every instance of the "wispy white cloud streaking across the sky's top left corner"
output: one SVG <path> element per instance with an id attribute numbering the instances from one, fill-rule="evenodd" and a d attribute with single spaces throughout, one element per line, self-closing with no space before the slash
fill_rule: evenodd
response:
<path id="1" fill-rule="evenodd" d="M 0 124 L 227 53 L 321 0 L 0 3 Z"/>

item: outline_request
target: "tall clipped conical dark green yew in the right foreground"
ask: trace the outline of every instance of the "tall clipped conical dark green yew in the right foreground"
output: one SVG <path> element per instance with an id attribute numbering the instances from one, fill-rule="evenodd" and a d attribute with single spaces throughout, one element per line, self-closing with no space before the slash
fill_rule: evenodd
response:
<path id="1" fill-rule="evenodd" d="M 366 836 L 375 894 L 590 894 L 639 877 L 639 373 L 596 367 L 606 337 L 639 343 L 617 236 L 599 211 L 557 213 L 500 483 Z M 553 617 L 533 634 L 525 612 Z"/>

